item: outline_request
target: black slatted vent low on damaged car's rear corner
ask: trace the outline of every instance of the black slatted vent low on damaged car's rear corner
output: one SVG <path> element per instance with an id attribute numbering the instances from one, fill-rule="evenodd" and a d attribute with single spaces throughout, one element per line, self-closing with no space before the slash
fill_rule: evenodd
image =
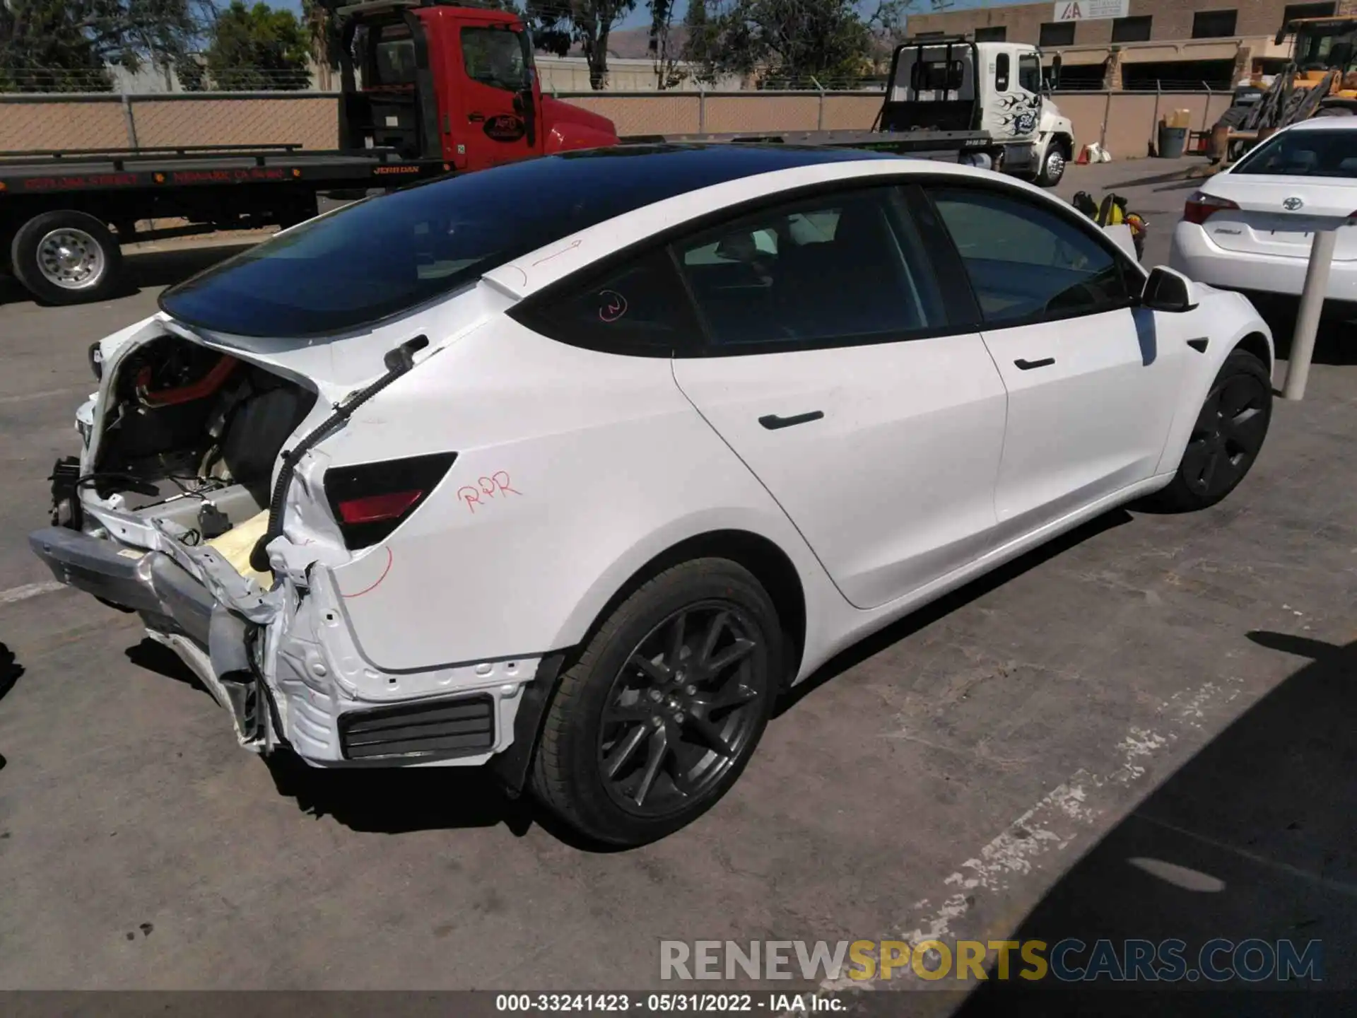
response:
<path id="1" fill-rule="evenodd" d="M 490 694 L 339 715 L 339 748 L 346 760 L 472 756 L 494 744 L 495 704 Z"/>

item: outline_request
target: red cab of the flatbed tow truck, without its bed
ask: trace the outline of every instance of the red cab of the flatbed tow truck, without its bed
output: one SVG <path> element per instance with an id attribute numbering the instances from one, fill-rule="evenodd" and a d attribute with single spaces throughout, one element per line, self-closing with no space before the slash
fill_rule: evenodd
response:
<path id="1" fill-rule="evenodd" d="M 607 117 L 541 94 L 532 38 L 514 14 L 438 0 L 332 10 L 341 148 L 394 148 L 470 171 L 617 144 Z"/>

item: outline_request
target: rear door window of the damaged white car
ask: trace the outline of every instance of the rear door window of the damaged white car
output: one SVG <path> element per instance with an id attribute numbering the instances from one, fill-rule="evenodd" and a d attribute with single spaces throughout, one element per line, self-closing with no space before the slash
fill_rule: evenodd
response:
<path id="1" fill-rule="evenodd" d="M 936 331 L 943 301 L 892 187 L 782 205 L 676 244 L 712 345 L 874 342 Z"/>

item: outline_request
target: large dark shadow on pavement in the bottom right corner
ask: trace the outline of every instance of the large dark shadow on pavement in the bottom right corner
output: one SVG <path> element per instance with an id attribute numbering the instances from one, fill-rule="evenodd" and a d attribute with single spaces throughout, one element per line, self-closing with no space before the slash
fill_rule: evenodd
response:
<path id="1" fill-rule="evenodd" d="M 1010 938 L 1045 941 L 1052 949 L 1077 938 L 1087 949 L 1071 951 L 1072 966 L 1087 965 L 1099 939 L 1111 941 L 1120 953 L 1129 939 L 1160 945 L 1172 938 L 1186 942 L 1185 972 L 1201 975 L 1159 984 L 1114 983 L 1111 976 L 1094 983 L 1049 976 L 1039 984 L 987 981 L 957 1015 L 1147 1014 L 1147 1007 L 1179 1014 L 1187 1007 L 1197 1013 L 1205 1002 L 1215 1002 L 1206 1010 L 1216 1014 L 1352 1013 L 1357 642 L 1331 646 L 1280 633 L 1248 638 L 1308 662 L 1094 846 Z M 1208 981 L 1201 951 L 1215 938 L 1292 941 L 1301 956 L 1311 941 L 1320 941 L 1322 983 L 1316 988 L 1305 979 Z M 1261 950 L 1246 965 L 1261 968 Z M 1216 962 L 1229 958 L 1228 950 L 1213 956 Z M 1149 1002 L 1117 992 L 1156 985 Z M 1315 992 L 1286 992 L 1297 989 Z"/>

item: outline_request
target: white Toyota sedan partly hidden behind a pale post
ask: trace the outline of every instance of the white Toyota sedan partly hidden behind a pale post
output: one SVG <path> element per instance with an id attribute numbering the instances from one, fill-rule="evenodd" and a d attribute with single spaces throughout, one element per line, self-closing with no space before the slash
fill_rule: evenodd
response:
<path id="1" fill-rule="evenodd" d="M 1277 132 L 1193 191 L 1168 263 L 1193 280 L 1297 297 L 1316 228 L 1339 220 L 1326 307 L 1357 314 L 1357 117 L 1316 117 Z"/>

